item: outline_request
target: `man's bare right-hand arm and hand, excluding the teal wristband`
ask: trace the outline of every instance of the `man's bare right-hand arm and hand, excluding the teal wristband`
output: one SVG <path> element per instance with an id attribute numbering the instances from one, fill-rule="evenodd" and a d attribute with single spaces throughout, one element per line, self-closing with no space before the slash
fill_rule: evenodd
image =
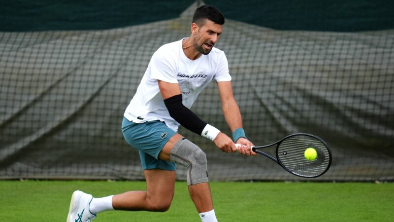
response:
<path id="1" fill-rule="evenodd" d="M 217 82 L 220 100 L 222 101 L 222 110 L 225 116 L 226 122 L 229 125 L 231 132 L 238 128 L 243 128 L 241 112 L 239 111 L 238 104 L 235 102 L 234 96 L 232 94 L 232 86 L 230 81 Z M 239 149 L 244 155 L 257 155 L 251 150 L 251 146 L 254 146 L 248 139 L 239 138 L 235 141 L 237 144 L 246 146 Z"/>

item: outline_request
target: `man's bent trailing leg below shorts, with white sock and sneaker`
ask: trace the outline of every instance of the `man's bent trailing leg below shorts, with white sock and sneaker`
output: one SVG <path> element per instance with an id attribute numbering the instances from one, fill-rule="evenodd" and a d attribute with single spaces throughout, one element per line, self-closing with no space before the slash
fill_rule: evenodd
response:
<path id="1" fill-rule="evenodd" d="M 75 191 L 71 197 L 67 222 L 88 222 L 106 210 L 167 211 L 174 196 L 175 171 L 152 169 L 144 170 L 144 174 L 146 191 L 129 191 L 102 198 Z"/>

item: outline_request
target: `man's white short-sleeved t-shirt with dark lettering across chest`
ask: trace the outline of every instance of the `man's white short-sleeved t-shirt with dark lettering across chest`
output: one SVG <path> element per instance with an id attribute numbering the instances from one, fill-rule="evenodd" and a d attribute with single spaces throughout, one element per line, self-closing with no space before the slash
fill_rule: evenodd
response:
<path id="1" fill-rule="evenodd" d="M 127 119 L 135 123 L 160 120 L 177 131 L 179 123 L 169 115 L 164 105 L 158 79 L 178 83 L 182 104 L 189 109 L 213 78 L 216 81 L 231 80 L 223 51 L 213 47 L 208 55 L 201 55 L 192 61 L 182 50 L 183 39 L 164 44 L 153 54 L 137 92 L 126 108 L 124 116 Z"/>

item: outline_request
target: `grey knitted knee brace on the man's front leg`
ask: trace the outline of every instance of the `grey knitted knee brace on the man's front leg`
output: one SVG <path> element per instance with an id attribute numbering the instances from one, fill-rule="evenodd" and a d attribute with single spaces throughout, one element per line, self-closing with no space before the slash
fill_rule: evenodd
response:
<path id="1" fill-rule="evenodd" d="M 174 145 L 170 161 L 188 168 L 188 185 L 208 182 L 205 153 L 189 140 L 183 138 Z"/>

